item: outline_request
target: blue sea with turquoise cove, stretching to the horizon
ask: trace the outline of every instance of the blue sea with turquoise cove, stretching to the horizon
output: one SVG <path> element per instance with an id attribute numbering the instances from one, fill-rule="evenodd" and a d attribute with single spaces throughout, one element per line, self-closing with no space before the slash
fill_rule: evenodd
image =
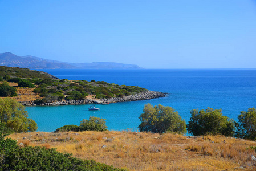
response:
<path id="1" fill-rule="evenodd" d="M 256 107 L 256 70 L 40 70 L 59 79 L 96 80 L 144 87 L 169 93 L 159 99 L 96 105 L 26 107 L 38 123 L 38 131 L 52 132 L 67 124 L 79 125 L 90 116 L 106 119 L 109 130 L 137 129 L 145 104 L 174 108 L 188 123 L 190 110 L 207 107 L 222 109 L 223 115 L 237 120 L 241 111 Z"/>

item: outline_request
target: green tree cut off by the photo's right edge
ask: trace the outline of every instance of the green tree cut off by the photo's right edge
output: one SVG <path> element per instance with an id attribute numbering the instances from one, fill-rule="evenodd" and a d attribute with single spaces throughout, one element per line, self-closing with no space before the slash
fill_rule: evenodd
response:
<path id="1" fill-rule="evenodd" d="M 256 140 L 256 109 L 249 108 L 238 116 L 237 132 L 235 136 L 242 139 Z"/>

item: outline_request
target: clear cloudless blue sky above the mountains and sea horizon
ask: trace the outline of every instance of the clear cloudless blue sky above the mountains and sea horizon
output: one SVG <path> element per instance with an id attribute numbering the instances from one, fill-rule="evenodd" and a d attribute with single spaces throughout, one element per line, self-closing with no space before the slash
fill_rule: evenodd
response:
<path id="1" fill-rule="evenodd" d="M 256 68 L 256 1 L 0 0 L 0 53 L 145 68 Z"/>

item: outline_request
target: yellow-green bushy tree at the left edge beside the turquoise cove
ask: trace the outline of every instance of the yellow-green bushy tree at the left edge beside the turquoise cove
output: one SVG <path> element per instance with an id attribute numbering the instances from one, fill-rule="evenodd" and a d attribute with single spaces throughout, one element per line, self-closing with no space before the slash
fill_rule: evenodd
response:
<path id="1" fill-rule="evenodd" d="M 27 117 L 25 107 L 18 101 L 9 97 L 0 99 L 0 121 L 6 124 L 6 127 L 15 132 L 36 131 L 37 124 Z"/>

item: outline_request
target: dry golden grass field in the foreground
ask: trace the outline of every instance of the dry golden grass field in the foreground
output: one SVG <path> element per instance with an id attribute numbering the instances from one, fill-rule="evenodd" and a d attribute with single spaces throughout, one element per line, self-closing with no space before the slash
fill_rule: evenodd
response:
<path id="1" fill-rule="evenodd" d="M 73 157 L 129 170 L 256 170 L 250 157 L 256 156 L 250 148 L 256 142 L 225 136 L 85 131 L 14 133 L 8 137 L 18 144 L 57 148 Z"/>

